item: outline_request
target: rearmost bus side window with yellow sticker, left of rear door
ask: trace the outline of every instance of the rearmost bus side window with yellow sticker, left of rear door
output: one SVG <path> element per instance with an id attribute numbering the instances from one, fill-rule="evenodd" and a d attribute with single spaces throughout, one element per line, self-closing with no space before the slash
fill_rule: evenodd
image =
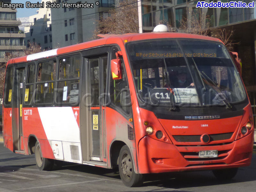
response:
<path id="1" fill-rule="evenodd" d="M 9 65 L 6 69 L 4 84 L 4 105 L 10 105 L 12 101 L 12 83 L 13 83 L 13 66 Z"/>

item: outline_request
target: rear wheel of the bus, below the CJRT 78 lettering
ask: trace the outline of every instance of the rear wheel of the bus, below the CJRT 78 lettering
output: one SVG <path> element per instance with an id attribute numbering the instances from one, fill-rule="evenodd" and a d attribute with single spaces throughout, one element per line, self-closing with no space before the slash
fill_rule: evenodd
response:
<path id="1" fill-rule="evenodd" d="M 42 151 L 38 141 L 36 141 L 36 146 L 35 146 L 35 158 L 36 158 L 36 167 L 40 171 L 49 171 L 52 169 L 54 160 L 47 159 L 42 156 Z"/>

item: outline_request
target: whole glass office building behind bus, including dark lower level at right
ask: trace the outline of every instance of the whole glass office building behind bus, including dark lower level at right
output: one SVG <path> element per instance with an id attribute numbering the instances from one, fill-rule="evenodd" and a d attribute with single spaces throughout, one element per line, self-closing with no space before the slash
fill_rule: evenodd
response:
<path id="1" fill-rule="evenodd" d="M 229 2 L 230 0 L 219 0 Z M 238 0 L 232 0 L 238 2 Z M 250 3 L 253 0 L 239 0 Z M 196 8 L 198 1 L 191 0 L 141 0 L 142 31 L 152 32 L 158 24 L 169 24 L 171 32 L 184 32 L 182 27 L 193 26 L 200 21 L 200 27 L 209 27 L 209 33 L 216 29 L 233 31 L 232 51 L 238 52 L 242 60 L 242 78 L 248 92 L 254 120 L 256 121 L 256 10 L 254 8 Z M 210 3 L 212 0 L 204 0 Z M 213 0 L 213 2 L 217 2 Z M 189 30 L 188 30 L 189 31 Z"/>

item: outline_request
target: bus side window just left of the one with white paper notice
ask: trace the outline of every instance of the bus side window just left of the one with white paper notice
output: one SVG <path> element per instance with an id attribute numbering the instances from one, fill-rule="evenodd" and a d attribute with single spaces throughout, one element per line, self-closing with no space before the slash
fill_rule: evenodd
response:
<path id="1" fill-rule="evenodd" d="M 52 104 L 55 73 L 56 60 L 44 61 L 38 64 L 34 98 L 36 104 Z"/>

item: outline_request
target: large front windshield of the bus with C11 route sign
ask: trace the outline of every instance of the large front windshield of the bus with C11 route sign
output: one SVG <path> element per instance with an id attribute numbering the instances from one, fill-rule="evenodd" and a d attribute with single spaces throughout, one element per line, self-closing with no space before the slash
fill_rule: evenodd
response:
<path id="1" fill-rule="evenodd" d="M 246 98 L 223 44 L 196 39 L 127 43 L 138 97 L 158 106 L 212 106 Z"/>

